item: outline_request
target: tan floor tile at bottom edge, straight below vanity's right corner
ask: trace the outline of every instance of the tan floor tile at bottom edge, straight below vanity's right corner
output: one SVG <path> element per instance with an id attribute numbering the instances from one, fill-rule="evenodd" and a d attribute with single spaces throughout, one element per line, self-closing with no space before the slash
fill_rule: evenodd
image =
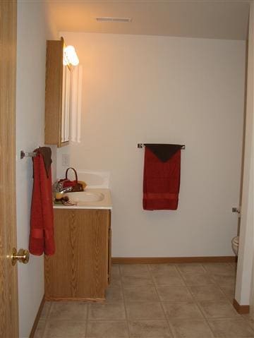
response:
<path id="1" fill-rule="evenodd" d="M 128 327 L 125 321 L 87 322 L 86 338 L 128 338 Z"/>

